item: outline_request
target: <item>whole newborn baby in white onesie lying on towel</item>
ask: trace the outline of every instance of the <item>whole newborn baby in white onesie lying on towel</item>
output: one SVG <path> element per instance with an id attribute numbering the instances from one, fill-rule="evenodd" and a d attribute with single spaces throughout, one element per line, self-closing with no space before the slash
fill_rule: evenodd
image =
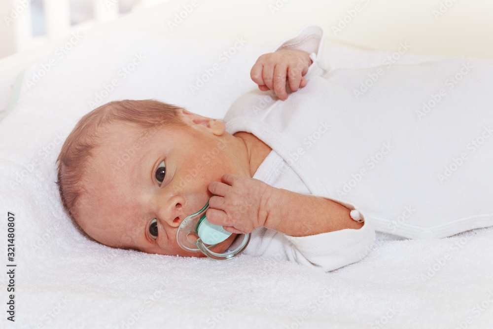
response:
<path id="1" fill-rule="evenodd" d="M 70 217 L 107 246 L 204 256 L 176 232 L 209 200 L 207 219 L 233 233 L 213 252 L 251 232 L 243 254 L 324 271 L 366 256 L 375 229 L 427 239 L 493 225 L 492 65 L 331 71 L 323 38 L 308 26 L 260 56 L 261 92 L 223 120 L 156 101 L 85 115 L 58 159 Z"/>

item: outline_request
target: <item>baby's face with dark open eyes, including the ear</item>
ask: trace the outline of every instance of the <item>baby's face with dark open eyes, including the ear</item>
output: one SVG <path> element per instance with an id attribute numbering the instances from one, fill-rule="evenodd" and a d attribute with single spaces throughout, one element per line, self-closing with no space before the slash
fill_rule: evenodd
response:
<path id="1" fill-rule="evenodd" d="M 222 121 L 184 120 L 188 127 L 160 127 L 142 138 L 142 130 L 129 125 L 108 127 L 82 181 L 87 192 L 80 196 L 78 222 L 85 232 L 112 247 L 203 256 L 178 246 L 178 226 L 207 203 L 209 183 L 225 173 L 248 172 L 230 150 L 234 137 Z M 212 251 L 223 252 L 235 237 Z"/>

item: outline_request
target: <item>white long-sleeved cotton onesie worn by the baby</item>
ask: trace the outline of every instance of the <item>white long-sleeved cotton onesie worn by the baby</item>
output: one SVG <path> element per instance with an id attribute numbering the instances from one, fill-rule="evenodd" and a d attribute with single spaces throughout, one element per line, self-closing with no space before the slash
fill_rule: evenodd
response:
<path id="1" fill-rule="evenodd" d="M 260 228 L 244 253 L 328 271 L 365 256 L 374 229 L 440 238 L 493 225 L 493 65 L 330 71 L 323 38 L 311 25 L 276 48 L 310 53 L 306 87 L 284 102 L 247 93 L 224 122 L 228 133 L 252 133 L 272 148 L 254 178 L 356 208 L 364 226 L 307 237 Z"/>

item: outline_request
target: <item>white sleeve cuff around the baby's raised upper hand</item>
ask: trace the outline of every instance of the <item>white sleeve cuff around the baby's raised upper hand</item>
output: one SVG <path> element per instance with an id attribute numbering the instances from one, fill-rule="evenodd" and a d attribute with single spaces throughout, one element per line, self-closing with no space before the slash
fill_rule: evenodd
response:
<path id="1" fill-rule="evenodd" d="M 304 50 L 310 54 L 313 61 L 305 77 L 308 79 L 311 75 L 324 75 L 330 71 L 329 65 L 323 58 L 323 40 L 325 32 L 318 25 L 307 25 L 294 37 L 288 38 L 281 42 L 273 52 L 281 49 Z"/>

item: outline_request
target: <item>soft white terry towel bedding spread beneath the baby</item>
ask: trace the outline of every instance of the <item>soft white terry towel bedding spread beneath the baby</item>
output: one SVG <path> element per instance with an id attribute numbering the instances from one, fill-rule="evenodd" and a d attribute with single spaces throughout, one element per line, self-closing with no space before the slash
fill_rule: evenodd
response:
<path id="1" fill-rule="evenodd" d="M 255 88 L 251 65 L 275 46 L 248 41 L 222 60 L 235 42 L 124 35 L 81 42 L 31 88 L 28 80 L 55 55 L 27 70 L 17 106 L 0 122 L 1 222 L 15 214 L 17 264 L 15 323 L 4 312 L 0 327 L 490 328 L 492 228 L 428 241 L 378 234 L 363 260 L 323 273 L 249 256 L 215 261 L 117 250 L 71 225 L 55 160 L 90 102 L 152 98 L 222 117 Z M 325 54 L 332 68 L 381 65 L 389 55 L 332 47 Z M 399 63 L 432 59 L 401 55 Z M 192 92 L 215 63 L 219 69 Z M 5 235 L 2 224 L 4 246 Z M 8 276 L 1 273 L 5 305 Z"/>

